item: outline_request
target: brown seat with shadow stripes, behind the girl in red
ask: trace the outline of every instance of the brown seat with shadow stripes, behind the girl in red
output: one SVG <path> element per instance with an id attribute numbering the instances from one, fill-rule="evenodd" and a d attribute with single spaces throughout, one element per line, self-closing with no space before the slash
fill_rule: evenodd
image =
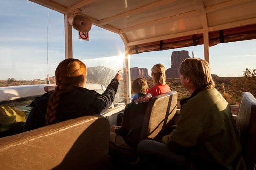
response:
<path id="1" fill-rule="evenodd" d="M 177 108 L 176 91 L 155 96 L 148 103 L 139 141 L 151 139 L 161 141 L 162 136 L 169 134 L 171 126 L 174 124 L 172 119 Z M 113 159 L 118 159 L 126 164 L 138 164 L 139 158 L 137 149 L 125 149 L 109 144 L 109 155 Z"/>

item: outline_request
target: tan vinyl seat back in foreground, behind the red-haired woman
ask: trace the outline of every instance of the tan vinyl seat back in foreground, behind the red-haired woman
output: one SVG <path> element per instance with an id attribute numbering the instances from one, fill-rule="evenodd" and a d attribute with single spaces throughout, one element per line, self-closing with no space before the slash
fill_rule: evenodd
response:
<path id="1" fill-rule="evenodd" d="M 105 170 L 109 129 L 91 115 L 0 138 L 0 169 Z"/>

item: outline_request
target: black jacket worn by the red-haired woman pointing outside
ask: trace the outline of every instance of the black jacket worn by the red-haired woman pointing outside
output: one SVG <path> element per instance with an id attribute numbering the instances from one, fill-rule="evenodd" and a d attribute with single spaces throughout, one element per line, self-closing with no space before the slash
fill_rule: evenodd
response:
<path id="1" fill-rule="evenodd" d="M 116 79 L 112 79 L 102 94 L 82 87 L 74 87 L 74 89 L 62 94 L 55 114 L 56 123 L 106 111 L 114 101 L 118 85 L 119 82 Z M 33 108 L 28 115 L 24 131 L 45 126 L 47 102 L 52 93 L 53 91 L 50 91 L 41 97 L 36 97 L 29 105 Z"/>

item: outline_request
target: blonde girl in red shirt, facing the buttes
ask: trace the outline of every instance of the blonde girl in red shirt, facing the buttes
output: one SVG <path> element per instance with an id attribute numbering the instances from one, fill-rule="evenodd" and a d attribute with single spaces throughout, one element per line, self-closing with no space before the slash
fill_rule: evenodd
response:
<path id="1" fill-rule="evenodd" d="M 165 67 L 158 63 L 151 68 L 153 86 L 148 89 L 148 93 L 155 97 L 157 95 L 170 92 L 169 85 L 166 84 Z"/>

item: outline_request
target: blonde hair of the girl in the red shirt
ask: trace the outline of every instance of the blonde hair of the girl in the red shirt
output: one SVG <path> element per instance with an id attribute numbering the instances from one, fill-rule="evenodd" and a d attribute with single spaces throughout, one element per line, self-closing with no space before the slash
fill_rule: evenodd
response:
<path id="1" fill-rule="evenodd" d="M 158 63 L 151 68 L 153 85 L 166 85 L 165 67 Z"/>

